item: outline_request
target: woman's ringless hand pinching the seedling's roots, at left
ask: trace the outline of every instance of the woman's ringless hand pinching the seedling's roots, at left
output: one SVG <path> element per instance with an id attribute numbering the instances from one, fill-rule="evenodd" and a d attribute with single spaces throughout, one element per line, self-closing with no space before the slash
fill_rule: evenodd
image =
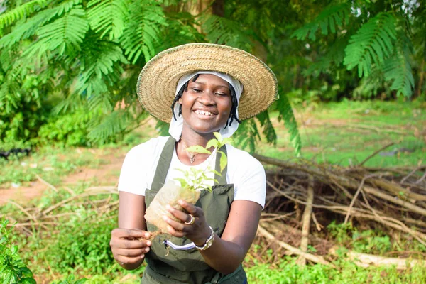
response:
<path id="1" fill-rule="evenodd" d="M 146 240 L 150 236 L 148 231 L 140 229 L 117 228 L 112 230 L 109 246 L 111 246 L 114 259 L 128 270 L 138 268 L 145 258 L 145 253 L 150 250 L 151 241 Z"/>

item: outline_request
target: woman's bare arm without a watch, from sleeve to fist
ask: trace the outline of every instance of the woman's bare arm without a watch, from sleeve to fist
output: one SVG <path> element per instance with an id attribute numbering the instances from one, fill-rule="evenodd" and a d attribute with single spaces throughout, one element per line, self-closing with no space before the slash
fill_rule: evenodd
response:
<path id="1" fill-rule="evenodd" d="M 146 231 L 145 197 L 129 192 L 120 192 L 119 228 L 111 231 L 111 246 L 114 258 L 123 268 L 136 269 L 143 263 L 151 241 L 139 241 L 151 234 Z"/>

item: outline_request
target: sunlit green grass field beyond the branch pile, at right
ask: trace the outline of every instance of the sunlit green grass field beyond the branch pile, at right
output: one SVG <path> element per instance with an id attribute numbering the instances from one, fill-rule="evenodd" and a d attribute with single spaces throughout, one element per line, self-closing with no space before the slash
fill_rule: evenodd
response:
<path id="1" fill-rule="evenodd" d="M 426 104 L 420 102 L 351 102 L 295 107 L 302 138 L 300 158 L 317 163 L 374 167 L 415 166 L 426 163 Z M 256 152 L 280 159 L 295 159 L 283 124 L 271 115 L 276 146 L 261 143 Z"/>

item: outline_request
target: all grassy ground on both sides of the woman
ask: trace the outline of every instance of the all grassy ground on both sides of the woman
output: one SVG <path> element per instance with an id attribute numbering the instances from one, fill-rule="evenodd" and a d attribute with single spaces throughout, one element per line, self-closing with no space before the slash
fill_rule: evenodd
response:
<path id="1" fill-rule="evenodd" d="M 426 153 L 426 106 L 418 102 L 342 102 L 319 104 L 312 107 L 296 107 L 295 113 L 302 136 L 303 159 L 317 163 L 356 165 L 368 155 L 388 143 L 393 146 L 368 160 L 368 166 L 404 166 L 425 164 Z M 297 160 L 288 143 L 288 133 L 278 124 L 277 114 L 271 114 L 278 136 L 276 146 L 264 141 L 257 152 L 281 159 Z M 125 137 L 119 145 L 97 149 L 38 148 L 29 157 L 0 160 L 1 187 L 12 183 L 25 185 L 35 180 L 35 174 L 53 185 L 70 173 L 81 168 L 102 168 L 110 163 L 111 157 L 124 155 L 133 146 L 153 136 L 153 126 L 138 129 Z M 409 151 L 398 151 L 407 148 Z M 384 154 L 386 155 L 383 155 Z M 119 172 L 115 171 L 114 175 Z M 90 185 L 99 185 L 99 180 Z M 71 185 L 70 185 L 71 186 Z M 74 185 L 72 190 L 80 193 L 88 185 Z M 40 209 L 70 197 L 70 192 L 45 192 L 31 206 Z M 107 198 L 107 196 L 89 197 Z M 116 196 L 113 197 L 116 200 Z M 137 271 L 124 271 L 111 258 L 108 247 L 108 232 L 116 226 L 116 212 L 98 219 L 91 207 L 70 204 L 58 209 L 57 214 L 72 212 L 65 216 L 55 231 L 33 228 L 34 236 L 16 237 L 21 256 L 41 283 L 43 279 L 65 279 L 69 275 L 87 277 L 87 283 L 139 283 L 143 267 Z M 0 214 L 12 214 L 19 219 L 24 214 L 11 204 L 0 208 Z M 79 228 L 76 230 L 75 228 Z M 377 231 L 346 231 L 336 225 L 328 228 L 330 236 L 342 246 L 364 253 L 387 255 L 395 251 L 418 251 L 424 255 L 424 246 L 414 246 L 405 238 L 393 241 Z M 86 234 L 88 233 L 88 234 Z M 267 252 L 268 253 L 268 252 Z M 394 256 L 389 254 L 388 256 Z M 334 261 L 336 268 L 322 265 L 297 266 L 295 258 L 284 258 L 278 263 L 267 261 L 244 262 L 249 283 L 426 283 L 426 269 L 411 268 L 403 273 L 395 268 L 359 268 L 351 261 Z"/>

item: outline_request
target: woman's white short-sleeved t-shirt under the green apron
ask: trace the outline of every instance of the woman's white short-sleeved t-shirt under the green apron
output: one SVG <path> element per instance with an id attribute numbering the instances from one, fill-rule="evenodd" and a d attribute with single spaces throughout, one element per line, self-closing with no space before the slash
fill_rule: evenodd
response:
<path id="1" fill-rule="evenodd" d="M 133 147 L 127 153 L 121 167 L 119 191 L 130 192 L 135 195 L 145 195 L 145 190 L 151 188 L 155 169 L 157 168 L 158 160 L 167 140 L 168 137 L 152 138 L 145 143 Z M 228 158 L 226 183 L 234 185 L 234 200 L 249 200 L 264 207 L 266 175 L 263 165 L 249 153 L 233 146 L 226 145 L 226 152 Z M 216 153 L 214 152 L 200 165 L 190 166 L 180 162 L 176 151 L 173 151 L 173 157 L 165 181 L 182 177 L 181 170 L 187 170 L 192 167 L 201 168 L 202 170 L 207 167 L 214 169 L 215 155 Z M 176 170 L 177 168 L 180 170 Z M 212 178 L 214 178 L 213 173 Z"/>

